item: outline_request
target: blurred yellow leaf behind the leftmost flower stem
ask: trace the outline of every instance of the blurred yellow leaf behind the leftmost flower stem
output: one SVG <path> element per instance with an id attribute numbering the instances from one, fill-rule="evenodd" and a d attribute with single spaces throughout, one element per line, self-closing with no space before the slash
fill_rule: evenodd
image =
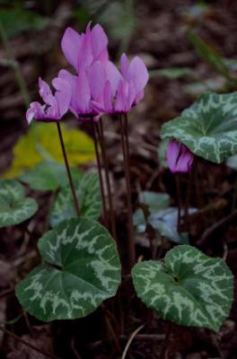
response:
<path id="1" fill-rule="evenodd" d="M 78 129 L 67 129 L 61 124 L 66 153 L 71 166 L 94 160 L 93 141 Z M 45 161 L 63 163 L 62 149 L 54 123 L 34 123 L 25 136 L 13 147 L 13 162 L 4 173 L 5 179 L 13 179 Z"/>

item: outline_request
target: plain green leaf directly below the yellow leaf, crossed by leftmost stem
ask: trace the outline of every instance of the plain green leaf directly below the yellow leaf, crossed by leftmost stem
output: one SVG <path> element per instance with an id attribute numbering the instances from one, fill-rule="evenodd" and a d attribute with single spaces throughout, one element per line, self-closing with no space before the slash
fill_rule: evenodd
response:
<path id="1" fill-rule="evenodd" d="M 81 171 L 71 169 L 71 172 L 73 180 L 82 177 Z M 68 186 L 65 165 L 57 162 L 41 162 L 20 179 L 36 190 L 56 190 Z"/>

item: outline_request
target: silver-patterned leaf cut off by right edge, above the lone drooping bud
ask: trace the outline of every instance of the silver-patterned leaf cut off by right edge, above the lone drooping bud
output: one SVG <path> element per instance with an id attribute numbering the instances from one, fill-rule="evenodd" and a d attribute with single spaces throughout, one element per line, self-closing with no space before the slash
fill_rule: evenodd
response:
<path id="1" fill-rule="evenodd" d="M 179 118 L 162 126 L 162 138 L 176 138 L 192 153 L 220 163 L 237 153 L 237 92 L 201 95 Z"/>

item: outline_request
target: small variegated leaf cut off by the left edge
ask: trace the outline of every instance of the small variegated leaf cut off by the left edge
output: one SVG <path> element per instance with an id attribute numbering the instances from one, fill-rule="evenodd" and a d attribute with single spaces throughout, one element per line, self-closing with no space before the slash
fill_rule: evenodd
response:
<path id="1" fill-rule="evenodd" d="M 22 223 L 37 210 L 37 202 L 25 197 L 21 183 L 17 180 L 0 181 L 0 227 Z"/>

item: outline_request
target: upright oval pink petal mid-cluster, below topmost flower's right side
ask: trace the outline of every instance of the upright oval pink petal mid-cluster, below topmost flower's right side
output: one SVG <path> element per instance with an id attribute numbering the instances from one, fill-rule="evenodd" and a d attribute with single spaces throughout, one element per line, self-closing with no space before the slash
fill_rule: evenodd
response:
<path id="1" fill-rule="evenodd" d="M 97 100 L 101 96 L 104 88 L 106 73 L 100 61 L 96 61 L 88 69 L 88 81 L 91 89 L 92 100 Z"/>

